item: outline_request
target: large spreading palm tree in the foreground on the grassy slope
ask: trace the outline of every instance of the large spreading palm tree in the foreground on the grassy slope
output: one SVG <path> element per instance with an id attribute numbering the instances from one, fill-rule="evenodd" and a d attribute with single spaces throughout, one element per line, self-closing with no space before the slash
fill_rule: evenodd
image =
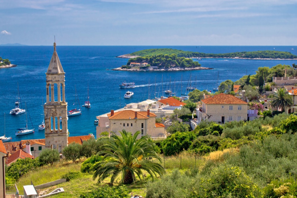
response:
<path id="1" fill-rule="evenodd" d="M 161 158 L 154 151 L 154 143 L 150 141 L 149 136 L 137 139 L 139 131 L 133 136 L 125 130 L 120 133 L 121 136 L 113 134 L 110 139 L 103 142 L 102 151 L 98 153 L 103 155 L 103 159 L 94 166 L 93 179 L 99 177 L 98 182 L 100 182 L 111 176 L 110 185 L 112 186 L 120 174 L 121 183 L 130 184 L 135 181 L 135 175 L 141 180 L 143 171 L 148 172 L 153 180 L 157 174 L 161 176 L 165 173 L 165 169 L 160 164 Z"/>

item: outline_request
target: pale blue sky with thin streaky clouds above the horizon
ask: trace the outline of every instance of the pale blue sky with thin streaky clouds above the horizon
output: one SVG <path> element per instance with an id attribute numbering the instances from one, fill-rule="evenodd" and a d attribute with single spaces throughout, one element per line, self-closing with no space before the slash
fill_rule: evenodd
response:
<path id="1" fill-rule="evenodd" d="M 0 44 L 297 45 L 297 0 L 0 0 Z"/>

